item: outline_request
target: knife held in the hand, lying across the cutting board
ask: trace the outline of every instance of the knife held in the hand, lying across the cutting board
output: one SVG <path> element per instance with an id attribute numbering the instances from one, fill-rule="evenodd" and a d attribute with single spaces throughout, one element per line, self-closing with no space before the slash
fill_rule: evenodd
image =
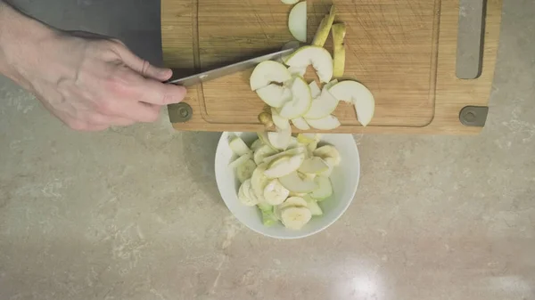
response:
<path id="1" fill-rule="evenodd" d="M 205 71 L 205 72 L 195 74 L 192 76 L 169 80 L 167 83 L 174 84 L 174 85 L 184 85 L 184 86 L 200 84 L 202 82 L 207 82 L 212 79 L 219 78 L 219 77 L 225 77 L 226 75 L 230 75 L 238 71 L 243 71 L 244 69 L 251 69 L 252 67 L 258 65 L 262 61 L 271 61 L 271 60 L 279 59 L 285 55 L 288 55 L 294 52 L 296 49 L 297 48 L 290 48 L 290 49 L 277 51 L 276 53 L 269 53 L 266 55 L 262 55 L 259 57 L 249 59 L 247 61 L 239 61 L 239 62 L 230 64 L 228 66 L 221 67 L 218 69 L 211 69 L 209 71 Z"/>

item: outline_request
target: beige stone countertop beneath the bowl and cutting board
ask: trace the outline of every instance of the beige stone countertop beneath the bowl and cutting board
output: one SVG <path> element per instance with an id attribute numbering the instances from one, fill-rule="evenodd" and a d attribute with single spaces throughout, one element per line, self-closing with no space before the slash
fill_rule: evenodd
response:
<path id="1" fill-rule="evenodd" d="M 535 14 L 506 1 L 478 136 L 356 136 L 349 210 L 260 236 L 218 196 L 219 134 L 80 134 L 0 79 L 0 299 L 535 299 Z"/>

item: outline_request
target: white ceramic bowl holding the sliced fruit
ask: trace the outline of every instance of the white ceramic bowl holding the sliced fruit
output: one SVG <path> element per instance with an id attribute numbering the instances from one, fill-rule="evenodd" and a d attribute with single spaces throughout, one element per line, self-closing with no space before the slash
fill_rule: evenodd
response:
<path id="1" fill-rule="evenodd" d="M 236 178 L 235 170 L 228 164 L 236 156 L 228 146 L 229 134 L 223 133 L 216 152 L 216 181 L 221 197 L 232 214 L 247 227 L 268 237 L 276 239 L 300 239 L 323 231 L 334 223 L 350 206 L 357 192 L 358 177 L 360 175 L 360 161 L 355 140 L 351 134 L 322 134 L 319 145 L 331 144 L 340 152 L 342 163 L 333 169 L 333 196 L 319 202 L 324 215 L 314 216 L 300 231 L 292 231 L 282 223 L 266 227 L 262 224 L 262 217 L 257 207 L 244 206 L 238 199 L 240 182 Z M 258 138 L 255 133 L 232 133 L 242 137 L 248 145 Z"/>

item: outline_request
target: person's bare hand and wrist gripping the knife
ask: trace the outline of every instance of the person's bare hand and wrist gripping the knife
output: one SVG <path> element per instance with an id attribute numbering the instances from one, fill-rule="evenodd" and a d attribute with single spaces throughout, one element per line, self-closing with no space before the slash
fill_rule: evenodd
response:
<path id="1" fill-rule="evenodd" d="M 35 93 L 77 130 L 103 130 L 158 118 L 185 88 L 165 85 L 153 67 L 117 40 L 50 28 L 0 0 L 0 73 Z"/>

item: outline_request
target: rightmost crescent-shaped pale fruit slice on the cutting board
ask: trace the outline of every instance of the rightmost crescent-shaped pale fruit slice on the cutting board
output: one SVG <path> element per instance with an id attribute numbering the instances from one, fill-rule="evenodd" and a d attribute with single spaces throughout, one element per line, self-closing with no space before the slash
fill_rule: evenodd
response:
<path id="1" fill-rule="evenodd" d="M 353 80 L 345 80 L 329 89 L 334 98 L 341 101 L 350 101 L 355 105 L 357 119 L 362 126 L 367 126 L 374 118 L 374 95 L 366 86 Z M 310 125 L 312 126 L 312 125 Z"/>

